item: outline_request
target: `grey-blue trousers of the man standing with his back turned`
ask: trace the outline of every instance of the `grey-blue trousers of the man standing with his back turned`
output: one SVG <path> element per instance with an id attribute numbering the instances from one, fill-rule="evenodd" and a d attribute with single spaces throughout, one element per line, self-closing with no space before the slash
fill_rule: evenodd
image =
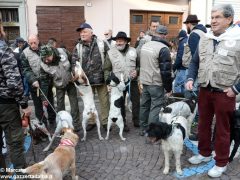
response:
<path id="1" fill-rule="evenodd" d="M 163 98 L 162 86 L 143 85 L 139 116 L 142 130 L 146 130 L 152 122 L 159 122 L 159 112 L 164 103 Z"/>

